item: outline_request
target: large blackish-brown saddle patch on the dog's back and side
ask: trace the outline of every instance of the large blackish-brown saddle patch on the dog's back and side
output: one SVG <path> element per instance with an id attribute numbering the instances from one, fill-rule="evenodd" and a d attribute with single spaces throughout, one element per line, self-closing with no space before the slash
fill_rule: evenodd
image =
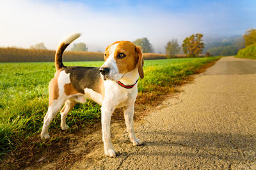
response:
<path id="1" fill-rule="evenodd" d="M 84 89 L 92 89 L 100 93 L 100 67 L 65 67 L 65 72 L 70 73 L 70 81 L 77 92 L 84 94 Z"/>

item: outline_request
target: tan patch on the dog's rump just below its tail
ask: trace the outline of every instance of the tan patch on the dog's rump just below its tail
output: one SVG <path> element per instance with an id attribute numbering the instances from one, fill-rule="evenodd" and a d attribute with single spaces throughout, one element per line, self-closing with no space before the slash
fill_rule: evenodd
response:
<path id="1" fill-rule="evenodd" d="M 52 105 L 52 102 L 59 97 L 59 87 L 58 87 L 58 78 L 60 75 L 60 72 L 63 69 L 60 69 L 56 71 L 54 78 L 49 83 L 49 106 Z"/>

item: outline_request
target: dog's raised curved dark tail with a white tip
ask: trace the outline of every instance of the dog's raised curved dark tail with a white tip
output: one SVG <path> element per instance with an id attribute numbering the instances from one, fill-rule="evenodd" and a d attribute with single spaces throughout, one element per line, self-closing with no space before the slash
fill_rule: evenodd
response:
<path id="1" fill-rule="evenodd" d="M 60 45 L 58 46 L 56 53 L 55 53 L 56 70 L 59 70 L 62 67 L 64 67 L 64 65 L 62 63 L 62 54 L 63 54 L 64 50 L 67 48 L 67 46 L 70 45 L 70 43 L 72 43 L 75 39 L 79 38 L 79 36 L 81 36 L 81 34 L 79 34 L 79 33 L 72 34 L 71 36 L 69 36 L 68 38 L 66 38 L 64 41 L 62 41 L 60 43 Z"/>

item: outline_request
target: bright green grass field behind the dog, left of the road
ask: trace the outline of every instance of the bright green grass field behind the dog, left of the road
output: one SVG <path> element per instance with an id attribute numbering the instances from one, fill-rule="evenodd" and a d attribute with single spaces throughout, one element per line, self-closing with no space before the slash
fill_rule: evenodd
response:
<path id="1" fill-rule="evenodd" d="M 218 57 L 146 60 L 145 78 L 139 80 L 140 94 L 163 94 L 196 69 Z M 103 62 L 64 62 L 65 66 L 101 66 Z M 0 63 L 0 155 L 39 138 L 48 106 L 48 83 L 54 76 L 53 62 Z M 77 104 L 67 117 L 72 128 L 99 122 L 100 106 L 92 101 Z M 60 114 L 51 124 L 60 131 Z M 33 140 L 31 141 L 31 143 Z"/>

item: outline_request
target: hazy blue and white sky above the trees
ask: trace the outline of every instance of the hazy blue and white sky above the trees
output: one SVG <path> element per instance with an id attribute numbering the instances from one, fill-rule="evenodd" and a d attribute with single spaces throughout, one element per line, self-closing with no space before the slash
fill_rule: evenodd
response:
<path id="1" fill-rule="evenodd" d="M 89 51 L 114 41 L 146 37 L 164 53 L 172 39 L 202 33 L 203 39 L 242 35 L 256 28 L 255 0 L 0 0 L 0 46 L 29 48 L 43 42 L 55 50 L 74 32 Z"/>

